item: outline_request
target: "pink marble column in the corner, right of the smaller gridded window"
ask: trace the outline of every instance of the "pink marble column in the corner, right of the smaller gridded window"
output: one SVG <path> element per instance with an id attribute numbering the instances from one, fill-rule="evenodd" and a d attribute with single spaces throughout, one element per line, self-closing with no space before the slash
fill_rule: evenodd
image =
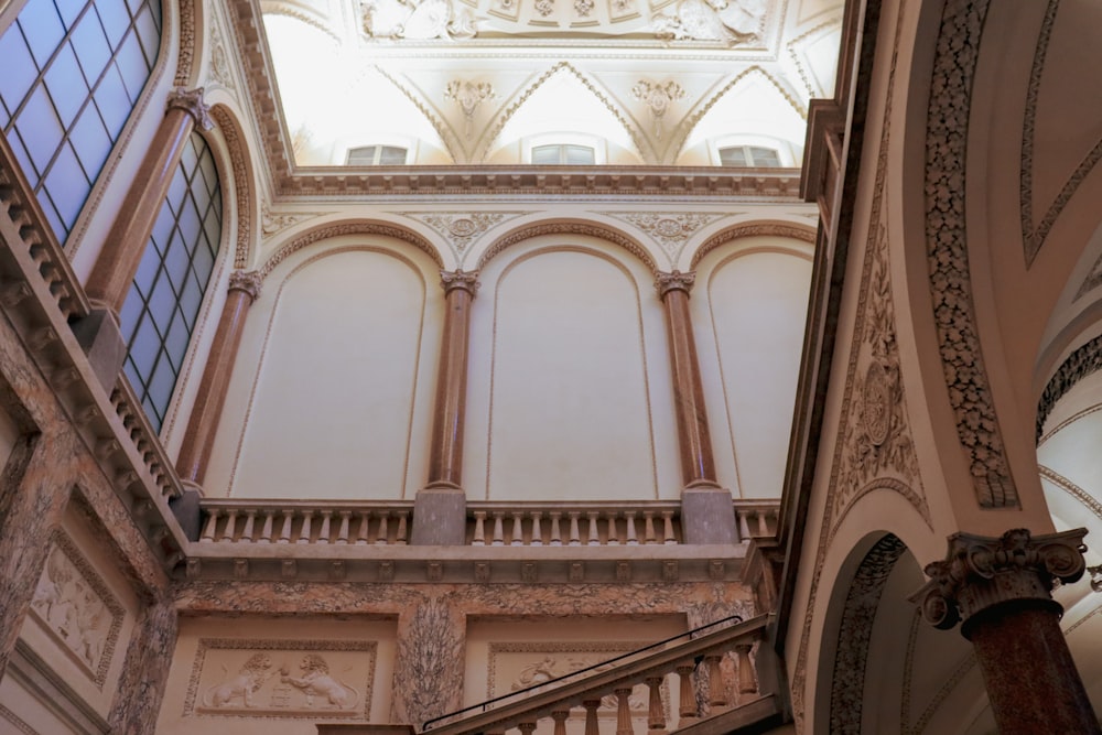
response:
<path id="1" fill-rule="evenodd" d="M 234 271 L 229 275 L 226 304 L 222 309 L 218 328 L 214 333 L 210 355 L 203 369 L 199 390 L 195 396 L 195 404 L 180 448 L 180 458 L 176 461 L 180 479 L 186 483 L 203 484 L 210 451 L 214 447 L 218 419 L 226 404 L 226 390 L 234 372 L 234 361 L 241 344 L 245 317 L 249 306 L 260 295 L 260 273 L 257 271 Z"/>

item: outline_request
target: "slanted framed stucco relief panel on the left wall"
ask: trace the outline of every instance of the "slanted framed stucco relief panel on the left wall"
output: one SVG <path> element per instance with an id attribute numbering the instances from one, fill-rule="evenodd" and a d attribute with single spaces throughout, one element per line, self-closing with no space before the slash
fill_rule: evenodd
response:
<path id="1" fill-rule="evenodd" d="M 54 548 L 31 601 L 34 618 L 68 649 L 102 688 L 122 629 L 125 612 L 102 579 L 67 536 Z"/>

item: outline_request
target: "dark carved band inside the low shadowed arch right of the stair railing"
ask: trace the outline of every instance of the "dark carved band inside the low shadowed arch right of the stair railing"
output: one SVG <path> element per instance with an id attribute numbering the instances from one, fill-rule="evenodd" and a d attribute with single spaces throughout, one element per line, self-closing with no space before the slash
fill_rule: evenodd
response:
<path id="1" fill-rule="evenodd" d="M 842 608 L 838 649 L 830 692 L 830 732 L 861 735 L 865 700 L 865 666 L 873 623 L 884 586 L 896 562 L 907 550 L 899 537 L 886 533 L 865 553 L 857 566 Z"/>

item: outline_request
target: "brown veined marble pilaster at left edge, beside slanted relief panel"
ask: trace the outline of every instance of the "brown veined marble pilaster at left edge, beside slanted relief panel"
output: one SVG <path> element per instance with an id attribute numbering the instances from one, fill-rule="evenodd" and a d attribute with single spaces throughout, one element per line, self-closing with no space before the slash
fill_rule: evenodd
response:
<path id="1" fill-rule="evenodd" d="M 74 439 L 24 435 L 0 475 L 0 679 L 76 480 Z"/>

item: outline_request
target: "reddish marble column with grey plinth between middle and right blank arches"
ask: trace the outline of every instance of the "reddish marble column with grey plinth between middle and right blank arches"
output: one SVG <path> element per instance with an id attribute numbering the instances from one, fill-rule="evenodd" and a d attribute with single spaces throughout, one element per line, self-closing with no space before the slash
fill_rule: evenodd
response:
<path id="1" fill-rule="evenodd" d="M 704 383 L 696 358 L 689 290 L 693 272 L 658 273 L 655 288 L 666 306 L 670 365 L 673 371 L 673 403 L 681 455 L 681 526 L 685 543 L 737 543 L 731 493 L 715 479 L 712 439 L 704 409 Z"/>

